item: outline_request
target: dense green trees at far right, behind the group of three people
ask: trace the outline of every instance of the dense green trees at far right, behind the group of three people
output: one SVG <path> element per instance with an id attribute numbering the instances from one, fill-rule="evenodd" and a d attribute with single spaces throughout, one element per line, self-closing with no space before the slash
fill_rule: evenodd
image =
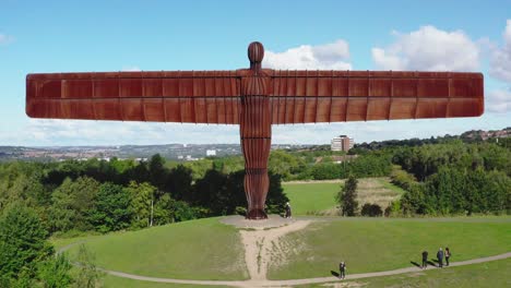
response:
<path id="1" fill-rule="evenodd" d="M 401 200 L 403 213 L 511 213 L 510 159 L 510 149 L 495 143 L 400 147 L 393 161 L 405 171 L 394 171 L 392 179 L 407 191 Z"/>

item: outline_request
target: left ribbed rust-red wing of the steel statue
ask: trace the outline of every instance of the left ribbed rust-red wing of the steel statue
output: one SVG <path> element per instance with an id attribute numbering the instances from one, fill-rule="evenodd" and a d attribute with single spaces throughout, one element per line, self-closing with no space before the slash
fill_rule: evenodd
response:
<path id="1" fill-rule="evenodd" d="M 28 74 L 34 118 L 239 123 L 235 71 Z"/>

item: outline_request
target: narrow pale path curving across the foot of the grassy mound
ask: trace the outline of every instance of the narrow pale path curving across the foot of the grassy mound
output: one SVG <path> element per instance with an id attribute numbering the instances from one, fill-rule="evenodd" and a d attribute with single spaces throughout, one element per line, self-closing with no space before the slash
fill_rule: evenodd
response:
<path id="1" fill-rule="evenodd" d="M 63 251 L 79 243 L 80 242 L 63 247 L 58 251 L 58 253 L 62 253 Z M 509 257 L 511 257 L 511 252 L 495 255 L 495 256 L 488 256 L 488 257 L 479 257 L 479 259 L 473 259 L 473 260 L 466 260 L 466 261 L 460 261 L 460 262 L 451 262 L 450 266 L 445 268 L 490 262 L 490 261 L 496 261 L 496 260 L 503 260 L 503 259 L 509 259 Z M 433 268 L 429 268 L 429 269 L 433 269 Z M 129 274 L 129 273 L 123 273 L 123 272 L 118 272 L 118 271 L 110 271 L 110 269 L 103 269 L 103 268 L 102 271 L 109 275 L 114 275 L 117 277 L 130 278 L 130 279 L 142 280 L 142 281 L 192 284 L 192 285 L 216 285 L 216 286 L 231 286 L 231 287 L 282 287 L 282 286 L 293 286 L 293 285 L 338 281 L 338 278 L 333 277 L 333 276 L 307 278 L 307 279 L 292 279 L 292 280 L 252 280 L 252 279 L 238 280 L 238 281 L 234 281 L 234 280 L 231 281 L 228 281 L 228 280 L 225 280 L 225 281 L 224 280 L 187 280 L 187 279 L 147 277 L 147 276 L 134 275 L 134 274 Z M 361 278 L 378 277 L 378 276 L 390 276 L 390 275 L 414 273 L 414 272 L 420 272 L 420 271 L 423 269 L 414 266 L 414 267 L 400 268 L 400 269 L 393 269 L 393 271 L 348 274 L 346 275 L 345 279 L 350 280 L 350 279 L 361 279 Z"/>

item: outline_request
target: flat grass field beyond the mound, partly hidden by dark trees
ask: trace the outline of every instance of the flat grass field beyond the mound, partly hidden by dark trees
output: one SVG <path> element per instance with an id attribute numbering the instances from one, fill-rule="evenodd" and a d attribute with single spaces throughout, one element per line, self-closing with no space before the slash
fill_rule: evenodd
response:
<path id="1" fill-rule="evenodd" d="M 342 183 L 343 181 L 288 182 L 282 187 L 289 197 L 294 215 L 335 215 L 335 195 Z M 364 178 L 358 179 L 357 193 L 360 206 L 376 203 L 384 209 L 404 191 L 390 183 L 389 178 Z"/>

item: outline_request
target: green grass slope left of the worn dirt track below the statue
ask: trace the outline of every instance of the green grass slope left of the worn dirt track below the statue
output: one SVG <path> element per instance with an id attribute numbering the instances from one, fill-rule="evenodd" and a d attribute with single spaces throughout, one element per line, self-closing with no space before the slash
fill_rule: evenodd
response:
<path id="1" fill-rule="evenodd" d="M 107 269 L 183 279 L 248 278 L 239 235 L 218 218 L 92 237 L 86 247 Z M 69 250 L 71 259 L 76 250 Z"/>

